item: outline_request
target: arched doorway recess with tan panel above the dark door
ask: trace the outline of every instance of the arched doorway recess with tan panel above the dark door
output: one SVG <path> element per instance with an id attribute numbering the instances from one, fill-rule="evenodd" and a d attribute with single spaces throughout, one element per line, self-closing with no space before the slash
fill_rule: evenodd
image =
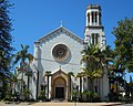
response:
<path id="1" fill-rule="evenodd" d="M 53 83 L 54 98 L 65 98 L 66 82 L 63 77 L 57 77 Z"/>

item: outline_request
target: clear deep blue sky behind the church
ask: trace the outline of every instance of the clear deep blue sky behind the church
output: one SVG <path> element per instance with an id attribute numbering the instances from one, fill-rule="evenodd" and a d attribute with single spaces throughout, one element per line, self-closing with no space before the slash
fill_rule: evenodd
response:
<path id="1" fill-rule="evenodd" d="M 20 44 L 30 45 L 43 35 L 61 25 L 84 39 L 85 10 L 89 4 L 102 8 L 102 24 L 106 35 L 106 44 L 114 49 L 114 35 L 111 33 L 117 21 L 125 17 L 133 18 L 133 0 L 10 0 L 14 3 L 10 11 L 12 19 L 11 33 L 13 46 L 21 50 Z M 14 53 L 17 52 L 14 51 Z M 129 77 L 129 76 L 127 76 Z M 127 80 L 129 81 L 129 80 Z"/>

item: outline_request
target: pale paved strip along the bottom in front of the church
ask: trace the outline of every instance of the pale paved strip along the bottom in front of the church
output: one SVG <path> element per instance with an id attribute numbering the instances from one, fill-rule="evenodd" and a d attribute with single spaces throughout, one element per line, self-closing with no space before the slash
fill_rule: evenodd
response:
<path id="1" fill-rule="evenodd" d="M 124 105 L 121 103 L 19 103 L 19 104 L 4 104 L 0 102 L 0 106 L 133 106 Z"/>

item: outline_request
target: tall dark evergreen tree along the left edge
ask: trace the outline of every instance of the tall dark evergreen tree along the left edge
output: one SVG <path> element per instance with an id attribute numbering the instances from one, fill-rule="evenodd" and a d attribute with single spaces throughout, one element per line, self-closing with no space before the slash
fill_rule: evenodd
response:
<path id="1" fill-rule="evenodd" d="M 0 0 L 0 82 L 2 83 L 2 96 L 6 96 L 7 87 L 7 73 L 9 73 L 10 67 L 10 56 L 13 47 L 12 43 L 12 24 L 9 18 L 9 9 L 12 6 L 9 0 Z"/>

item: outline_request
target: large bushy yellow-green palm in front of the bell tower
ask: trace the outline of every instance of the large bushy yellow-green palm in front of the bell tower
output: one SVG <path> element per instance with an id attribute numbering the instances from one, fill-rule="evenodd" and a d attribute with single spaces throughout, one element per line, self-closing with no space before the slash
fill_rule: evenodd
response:
<path id="1" fill-rule="evenodd" d="M 91 91 L 93 91 L 93 80 L 95 78 L 94 73 L 95 71 L 101 68 L 98 53 L 99 53 L 99 46 L 93 44 L 88 45 L 84 50 L 81 51 L 82 54 L 81 64 L 85 63 L 83 71 L 84 74 L 88 76 L 88 89 Z M 90 86 L 89 83 L 91 83 Z"/>

